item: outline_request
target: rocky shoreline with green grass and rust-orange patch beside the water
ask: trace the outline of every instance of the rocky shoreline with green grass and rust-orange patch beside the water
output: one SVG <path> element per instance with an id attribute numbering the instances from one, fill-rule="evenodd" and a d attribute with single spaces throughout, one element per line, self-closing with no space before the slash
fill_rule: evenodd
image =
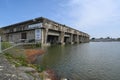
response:
<path id="1" fill-rule="evenodd" d="M 20 52 L 19 50 L 17 51 Z M 19 60 L 18 56 L 14 57 L 7 53 L 4 55 L 0 54 L 0 80 L 67 80 L 60 79 L 56 73 L 50 69 L 39 71 L 37 66 L 32 64 L 36 56 L 44 53 L 43 50 L 27 49 L 24 51 L 21 50 L 21 52 L 25 52 L 27 63 L 25 63 L 26 61 L 22 57 Z M 14 53 L 12 55 L 14 55 Z"/>

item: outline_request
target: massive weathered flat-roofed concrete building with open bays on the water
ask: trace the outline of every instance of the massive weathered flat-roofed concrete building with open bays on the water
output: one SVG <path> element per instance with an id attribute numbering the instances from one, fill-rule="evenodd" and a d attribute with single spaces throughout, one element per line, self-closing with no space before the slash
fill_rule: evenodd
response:
<path id="1" fill-rule="evenodd" d="M 39 17 L 2 28 L 3 41 L 40 42 L 41 44 L 65 44 L 89 42 L 87 33 Z"/>

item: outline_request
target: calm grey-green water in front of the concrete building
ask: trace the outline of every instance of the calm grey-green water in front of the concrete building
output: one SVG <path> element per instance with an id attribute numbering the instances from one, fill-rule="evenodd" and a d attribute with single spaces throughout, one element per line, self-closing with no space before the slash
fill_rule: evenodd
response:
<path id="1" fill-rule="evenodd" d="M 120 80 L 120 42 L 52 46 L 36 63 L 70 80 Z"/>

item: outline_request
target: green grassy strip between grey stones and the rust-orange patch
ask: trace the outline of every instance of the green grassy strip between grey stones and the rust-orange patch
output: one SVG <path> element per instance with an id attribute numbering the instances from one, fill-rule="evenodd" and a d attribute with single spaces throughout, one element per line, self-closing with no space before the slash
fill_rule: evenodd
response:
<path id="1" fill-rule="evenodd" d="M 20 66 L 32 67 L 36 69 L 38 72 L 42 72 L 43 70 L 45 70 L 45 68 L 40 65 L 29 63 L 27 60 L 27 56 L 23 53 L 20 53 L 20 50 L 16 49 L 15 51 L 19 53 L 16 54 L 8 53 L 8 52 L 4 53 L 4 56 L 9 60 L 10 63 L 14 64 L 15 67 L 20 67 Z M 21 50 L 21 52 L 23 51 Z"/>

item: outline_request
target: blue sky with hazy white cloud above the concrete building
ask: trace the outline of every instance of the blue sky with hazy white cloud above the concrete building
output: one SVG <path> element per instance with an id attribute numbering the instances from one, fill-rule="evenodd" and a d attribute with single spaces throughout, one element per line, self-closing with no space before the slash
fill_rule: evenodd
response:
<path id="1" fill-rule="evenodd" d="M 0 0 L 0 27 L 41 16 L 91 37 L 120 37 L 120 0 Z"/>

